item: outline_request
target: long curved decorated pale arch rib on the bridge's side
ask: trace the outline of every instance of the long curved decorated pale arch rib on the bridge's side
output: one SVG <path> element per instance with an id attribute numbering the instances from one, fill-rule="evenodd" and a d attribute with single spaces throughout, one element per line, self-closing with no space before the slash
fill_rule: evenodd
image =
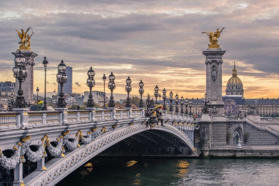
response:
<path id="1" fill-rule="evenodd" d="M 82 166 L 85 162 L 95 157 L 105 149 L 112 145 L 126 139 L 132 135 L 138 134 L 143 131 L 150 130 L 148 126 L 142 123 L 132 124 L 125 127 L 118 127 L 112 131 L 105 132 L 104 134 L 96 137 L 88 144 L 82 144 L 79 148 L 64 153 L 65 157 L 55 157 L 47 162 L 45 171 L 34 171 L 26 178 L 24 178 L 25 185 L 55 185 L 64 177 L 69 175 L 73 170 Z M 165 131 L 174 135 L 185 146 L 187 146 L 191 153 L 194 152 L 194 147 L 188 137 L 183 131 L 179 130 L 176 126 L 170 123 L 165 123 L 163 126 L 154 126 L 152 130 Z"/>

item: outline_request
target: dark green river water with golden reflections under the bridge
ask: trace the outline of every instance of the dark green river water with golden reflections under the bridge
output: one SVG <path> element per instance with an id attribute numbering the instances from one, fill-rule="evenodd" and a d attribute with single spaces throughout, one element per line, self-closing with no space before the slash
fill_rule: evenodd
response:
<path id="1" fill-rule="evenodd" d="M 57 186 L 279 185 L 279 159 L 93 158 Z"/>

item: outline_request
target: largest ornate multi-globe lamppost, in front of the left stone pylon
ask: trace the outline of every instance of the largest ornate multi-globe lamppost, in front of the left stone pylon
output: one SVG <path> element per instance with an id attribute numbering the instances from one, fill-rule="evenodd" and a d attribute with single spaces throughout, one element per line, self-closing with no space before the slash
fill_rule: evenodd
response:
<path id="1" fill-rule="evenodd" d="M 25 57 L 18 51 L 15 56 L 15 67 L 13 68 L 14 77 L 19 82 L 19 89 L 17 91 L 17 96 L 14 103 L 14 108 L 26 108 L 26 102 L 23 96 L 23 90 L 21 88 L 21 83 L 25 81 L 27 77 L 27 69 L 25 68 Z"/>

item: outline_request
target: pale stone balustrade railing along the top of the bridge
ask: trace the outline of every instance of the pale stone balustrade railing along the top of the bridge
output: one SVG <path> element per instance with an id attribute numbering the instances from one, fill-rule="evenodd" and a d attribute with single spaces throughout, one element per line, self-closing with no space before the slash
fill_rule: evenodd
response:
<path id="1" fill-rule="evenodd" d="M 100 121 L 112 119 L 133 119 L 144 117 L 144 111 L 140 109 L 99 109 L 99 110 L 64 110 L 64 111 L 27 111 L 19 112 L 1 112 L 0 129 L 56 125 L 63 123 L 77 123 L 80 121 Z M 168 113 L 162 111 L 163 118 L 177 119 L 182 121 L 194 121 L 192 116 Z M 24 125 L 22 124 L 24 123 Z"/>

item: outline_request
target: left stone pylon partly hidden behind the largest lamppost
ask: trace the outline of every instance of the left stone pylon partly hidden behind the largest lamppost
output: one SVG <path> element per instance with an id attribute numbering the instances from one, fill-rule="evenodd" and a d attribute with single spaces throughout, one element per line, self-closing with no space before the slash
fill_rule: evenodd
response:
<path id="1" fill-rule="evenodd" d="M 18 50 L 16 50 L 16 52 L 12 52 L 13 55 L 17 55 L 18 54 Z M 34 63 L 34 58 L 38 55 L 35 54 L 32 50 L 20 50 L 21 54 L 24 55 L 25 57 L 25 67 L 28 71 L 27 73 L 27 78 L 25 79 L 25 81 L 22 83 L 22 90 L 23 90 L 23 95 L 24 95 L 24 99 L 27 103 L 27 107 L 30 107 L 31 104 L 33 104 L 33 66 L 35 65 Z M 43 69 L 43 66 L 42 66 Z M 15 94 L 17 96 L 17 91 L 18 91 L 18 87 L 19 87 L 19 83 L 18 80 L 15 80 Z"/>

